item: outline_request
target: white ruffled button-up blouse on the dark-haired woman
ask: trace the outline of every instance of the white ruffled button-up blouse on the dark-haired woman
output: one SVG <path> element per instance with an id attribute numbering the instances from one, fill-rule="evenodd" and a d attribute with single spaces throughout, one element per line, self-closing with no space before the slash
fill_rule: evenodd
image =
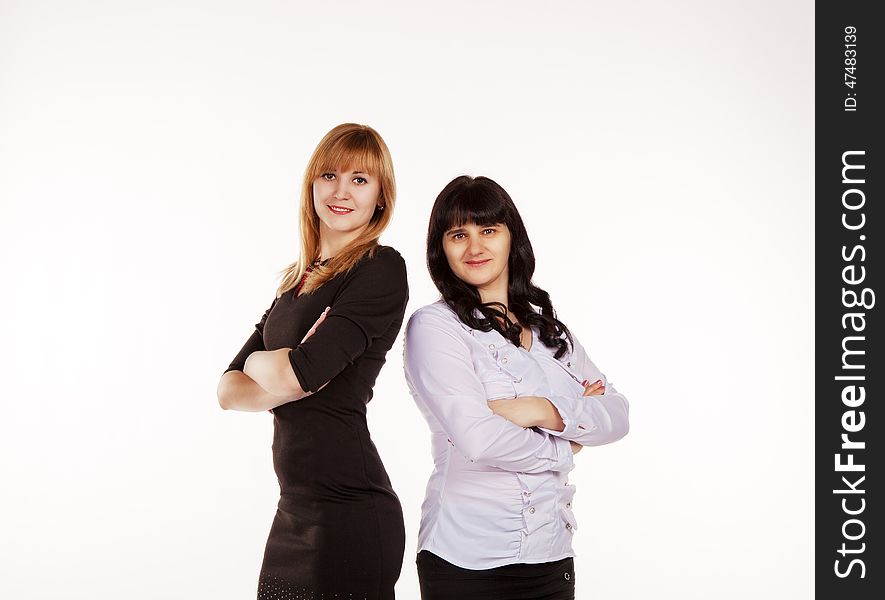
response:
<path id="1" fill-rule="evenodd" d="M 532 330 L 531 348 L 465 325 L 444 302 L 416 311 L 406 327 L 409 391 L 431 431 L 434 470 L 421 508 L 418 551 L 466 569 L 574 556 L 575 488 L 569 440 L 597 446 L 628 430 L 627 399 L 574 338 L 560 359 Z M 583 396 L 584 380 L 605 394 Z M 526 429 L 487 400 L 543 396 L 563 431 Z"/>

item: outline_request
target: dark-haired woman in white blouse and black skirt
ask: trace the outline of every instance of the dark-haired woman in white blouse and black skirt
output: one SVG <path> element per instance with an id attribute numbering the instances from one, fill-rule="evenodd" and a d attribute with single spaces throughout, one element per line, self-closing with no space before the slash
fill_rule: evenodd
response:
<path id="1" fill-rule="evenodd" d="M 424 600 L 574 598 L 573 454 L 627 433 L 627 400 L 532 282 L 501 186 L 440 193 L 427 266 L 442 296 L 406 329 L 405 371 L 435 469 L 418 540 Z"/>

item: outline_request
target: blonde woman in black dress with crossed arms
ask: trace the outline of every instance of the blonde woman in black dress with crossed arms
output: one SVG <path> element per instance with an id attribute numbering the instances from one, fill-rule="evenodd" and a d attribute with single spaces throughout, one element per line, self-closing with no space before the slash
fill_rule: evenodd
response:
<path id="1" fill-rule="evenodd" d="M 301 253 L 218 386 L 224 409 L 271 410 L 280 501 L 259 599 L 394 597 L 405 533 L 366 425 L 403 322 L 405 262 L 378 238 L 395 183 L 384 141 L 343 124 L 301 190 Z"/>

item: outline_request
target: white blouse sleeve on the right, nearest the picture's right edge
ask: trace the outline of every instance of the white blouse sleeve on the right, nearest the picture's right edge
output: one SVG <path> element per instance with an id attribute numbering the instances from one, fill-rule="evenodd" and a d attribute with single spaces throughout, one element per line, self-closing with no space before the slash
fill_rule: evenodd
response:
<path id="1" fill-rule="evenodd" d="M 596 368 L 578 338 L 572 336 L 572 341 L 571 362 L 575 372 L 582 380 L 593 382 L 601 379 L 605 393 L 601 396 L 550 396 L 548 400 L 559 411 L 565 429 L 544 431 L 582 446 L 601 446 L 617 441 L 630 430 L 627 398 Z"/>

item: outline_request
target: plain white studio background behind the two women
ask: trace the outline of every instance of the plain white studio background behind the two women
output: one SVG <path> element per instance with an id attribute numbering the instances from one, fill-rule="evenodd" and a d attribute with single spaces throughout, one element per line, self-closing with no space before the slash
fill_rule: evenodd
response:
<path id="1" fill-rule="evenodd" d="M 811 597 L 812 34 L 787 0 L 0 1 L 0 596 L 254 598 L 271 416 L 215 386 L 355 121 L 394 157 L 408 314 L 437 193 L 491 176 L 631 401 L 572 473 L 578 598 Z M 409 600 L 401 354 L 369 413 Z"/>

